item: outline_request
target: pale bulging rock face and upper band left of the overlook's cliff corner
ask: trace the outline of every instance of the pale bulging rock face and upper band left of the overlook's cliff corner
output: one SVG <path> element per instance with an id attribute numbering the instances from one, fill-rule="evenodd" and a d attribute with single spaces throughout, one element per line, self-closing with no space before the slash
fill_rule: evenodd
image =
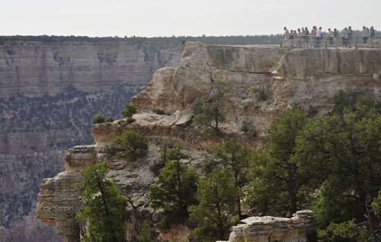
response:
<path id="1" fill-rule="evenodd" d="M 231 80 L 242 84 L 227 75 L 269 73 L 284 53 L 283 48 L 276 46 L 206 46 L 200 42 L 185 42 L 183 48 L 175 71 L 163 68 L 154 73 L 148 88 L 132 98 L 132 103 L 167 113 L 194 109 L 208 98 L 213 81 Z"/>

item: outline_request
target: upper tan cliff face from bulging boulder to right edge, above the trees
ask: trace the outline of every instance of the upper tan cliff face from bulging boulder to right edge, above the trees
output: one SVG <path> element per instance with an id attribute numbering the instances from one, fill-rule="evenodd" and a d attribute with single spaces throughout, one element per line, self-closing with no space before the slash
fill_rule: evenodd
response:
<path id="1" fill-rule="evenodd" d="M 227 82 L 227 131 L 237 132 L 250 121 L 260 133 L 278 111 L 297 104 L 305 111 L 325 112 L 332 96 L 356 89 L 378 98 L 381 91 L 380 49 L 296 48 L 284 53 L 277 46 L 206 46 L 184 44 L 177 68 L 154 73 L 148 88 L 132 98 L 140 109 L 186 113 L 204 102 L 215 80 Z M 284 55 L 283 55 L 284 54 Z M 258 100 L 254 89 L 271 93 Z"/>

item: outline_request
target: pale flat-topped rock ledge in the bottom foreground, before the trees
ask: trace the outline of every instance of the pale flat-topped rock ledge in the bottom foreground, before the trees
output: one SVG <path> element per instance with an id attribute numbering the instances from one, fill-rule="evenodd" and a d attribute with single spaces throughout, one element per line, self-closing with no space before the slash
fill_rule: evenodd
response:
<path id="1" fill-rule="evenodd" d="M 312 212 L 298 211 L 292 218 L 250 217 L 232 227 L 229 242 L 306 242 L 312 229 Z"/>

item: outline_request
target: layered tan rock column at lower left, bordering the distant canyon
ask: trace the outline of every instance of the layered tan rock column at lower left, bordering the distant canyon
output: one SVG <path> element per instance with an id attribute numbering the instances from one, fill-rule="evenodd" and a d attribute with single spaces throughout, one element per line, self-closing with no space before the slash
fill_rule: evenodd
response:
<path id="1" fill-rule="evenodd" d="M 65 158 L 65 171 L 54 178 L 42 180 L 37 197 L 36 218 L 54 224 L 57 234 L 66 242 L 79 241 L 80 227 L 76 213 L 80 205 L 78 183 L 83 180 L 80 170 L 96 162 L 95 146 L 69 149 Z"/>

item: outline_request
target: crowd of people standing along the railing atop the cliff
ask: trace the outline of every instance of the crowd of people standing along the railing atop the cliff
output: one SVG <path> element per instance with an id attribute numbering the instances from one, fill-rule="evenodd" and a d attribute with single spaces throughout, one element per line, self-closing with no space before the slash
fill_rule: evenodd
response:
<path id="1" fill-rule="evenodd" d="M 321 42 L 326 37 L 326 46 L 334 46 L 335 48 L 339 45 L 339 39 L 342 41 L 342 46 L 345 48 L 352 48 L 354 32 L 351 26 L 344 28 L 339 31 L 336 28 L 333 30 L 328 28 L 328 32 L 323 32 L 322 28 L 313 26 L 312 30 L 308 30 L 307 27 L 301 27 L 297 30 L 288 30 L 286 27 L 283 28 L 284 35 L 282 46 L 297 46 L 297 47 L 312 47 L 320 48 Z M 368 44 L 368 41 L 373 48 L 373 40 L 375 39 L 375 29 L 373 26 L 371 28 L 362 27 L 361 31 L 362 44 Z"/>

